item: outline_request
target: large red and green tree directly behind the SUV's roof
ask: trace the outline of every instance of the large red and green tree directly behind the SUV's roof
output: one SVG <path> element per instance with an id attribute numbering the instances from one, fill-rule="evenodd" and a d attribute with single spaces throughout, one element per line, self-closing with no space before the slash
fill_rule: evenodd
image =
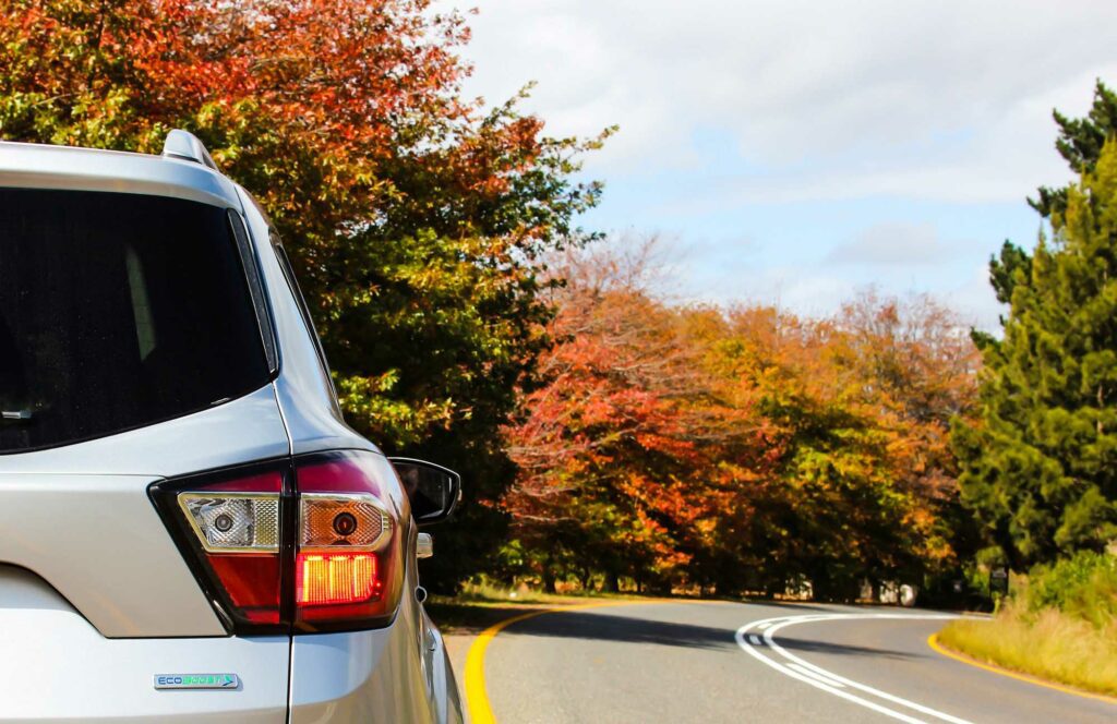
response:
<path id="1" fill-rule="evenodd" d="M 600 139 L 462 97 L 468 29 L 430 0 L 0 4 L 0 137 L 157 153 L 195 133 L 271 216 L 349 423 L 499 496 L 491 441 L 550 344 L 541 255 L 592 238 L 574 218 L 601 189 L 572 175 Z M 448 530 L 446 575 L 499 537 L 466 515 L 485 520 Z"/>

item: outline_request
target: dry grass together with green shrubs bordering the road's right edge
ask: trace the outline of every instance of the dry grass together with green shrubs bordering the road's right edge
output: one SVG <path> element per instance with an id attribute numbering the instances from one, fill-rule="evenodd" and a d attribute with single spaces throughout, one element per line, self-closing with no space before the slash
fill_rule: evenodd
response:
<path id="1" fill-rule="evenodd" d="M 980 661 L 1117 696 L 1115 571 L 1098 555 L 1037 569 L 993 619 L 952 621 L 938 640 Z"/>

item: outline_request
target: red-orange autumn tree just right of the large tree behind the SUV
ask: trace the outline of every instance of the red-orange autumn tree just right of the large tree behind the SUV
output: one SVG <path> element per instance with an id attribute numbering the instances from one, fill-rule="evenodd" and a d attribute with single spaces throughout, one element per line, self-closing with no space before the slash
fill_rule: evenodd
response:
<path id="1" fill-rule="evenodd" d="M 662 584 L 717 520 L 709 442 L 747 435 L 716 404 L 698 350 L 647 288 L 649 246 L 629 257 L 567 255 L 566 285 L 525 417 L 507 430 L 519 479 L 502 501 L 553 588 L 567 569 L 607 588 Z"/>

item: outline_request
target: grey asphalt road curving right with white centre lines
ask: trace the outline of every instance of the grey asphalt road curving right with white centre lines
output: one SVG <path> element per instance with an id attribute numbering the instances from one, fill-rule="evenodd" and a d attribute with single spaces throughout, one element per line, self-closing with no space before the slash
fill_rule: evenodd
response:
<path id="1" fill-rule="evenodd" d="M 483 682 L 464 676 L 465 641 L 454 648 L 466 696 L 484 686 L 502 723 L 1117 722 L 1115 704 L 936 652 L 927 638 L 943 622 L 884 608 L 637 603 L 512 623 L 488 641 Z"/>

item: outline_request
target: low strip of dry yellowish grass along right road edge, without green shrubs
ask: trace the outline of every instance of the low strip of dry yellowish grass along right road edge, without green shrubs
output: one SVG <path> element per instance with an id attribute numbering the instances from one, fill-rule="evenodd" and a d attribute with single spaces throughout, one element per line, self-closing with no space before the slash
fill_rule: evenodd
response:
<path id="1" fill-rule="evenodd" d="M 982 661 L 1117 695 L 1117 622 L 1098 628 L 1057 609 L 1031 613 L 1009 602 L 993 620 L 952 621 L 938 639 Z"/>

